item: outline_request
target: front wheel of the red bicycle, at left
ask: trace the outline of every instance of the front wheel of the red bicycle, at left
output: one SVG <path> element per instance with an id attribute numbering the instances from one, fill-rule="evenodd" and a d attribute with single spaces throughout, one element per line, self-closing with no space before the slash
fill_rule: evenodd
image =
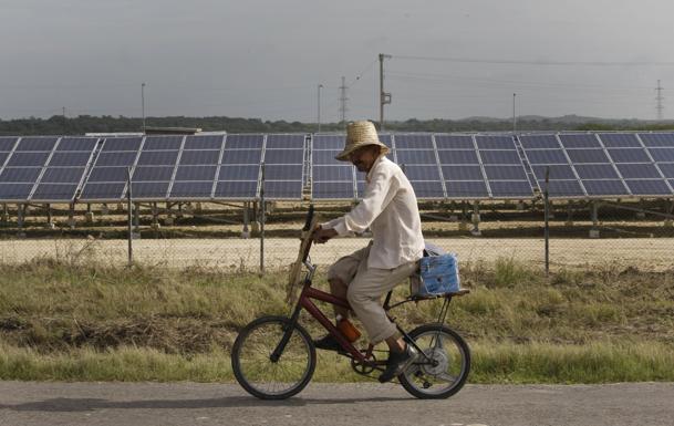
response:
<path id="1" fill-rule="evenodd" d="M 290 339 L 280 356 L 272 354 L 289 329 Z M 237 382 L 261 399 L 284 399 L 307 386 L 315 368 L 311 336 L 286 316 L 262 316 L 246 325 L 231 349 Z"/>

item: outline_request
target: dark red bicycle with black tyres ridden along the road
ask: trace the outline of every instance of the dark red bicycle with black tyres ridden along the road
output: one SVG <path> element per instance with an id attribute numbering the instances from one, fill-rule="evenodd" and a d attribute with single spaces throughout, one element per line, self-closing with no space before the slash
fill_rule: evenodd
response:
<path id="1" fill-rule="evenodd" d="M 312 287 L 317 267 L 311 263 L 311 231 L 315 229 L 313 206 L 309 208 L 304 224 L 302 243 L 298 261 L 293 266 L 288 289 L 289 301 L 298 283 L 301 264 L 307 274 L 301 283 L 302 290 L 290 318 L 262 316 L 246 325 L 238 334 L 231 351 L 231 366 L 237 382 L 249 394 L 260 399 L 284 399 L 301 392 L 311 381 L 317 364 L 313 340 L 299 323 L 300 313 L 305 310 L 342 346 L 340 355 L 351 360 L 351 367 L 362 375 L 383 371 L 385 361 L 375 356 L 374 345 L 360 350 L 349 342 L 331 320 L 312 300 L 350 309 L 349 302 Z M 294 278 L 292 278 L 294 276 Z M 470 371 L 470 350 L 464 339 L 445 325 L 449 302 L 455 297 L 467 294 L 466 289 L 458 292 L 431 297 L 409 295 L 391 304 L 393 291 L 386 294 L 384 310 L 396 325 L 407 344 L 417 350 L 419 356 L 397 378 L 409 394 L 417 398 L 447 398 L 456 394 L 466 383 Z M 390 311 L 409 302 L 444 299 L 438 319 L 405 332 Z"/>

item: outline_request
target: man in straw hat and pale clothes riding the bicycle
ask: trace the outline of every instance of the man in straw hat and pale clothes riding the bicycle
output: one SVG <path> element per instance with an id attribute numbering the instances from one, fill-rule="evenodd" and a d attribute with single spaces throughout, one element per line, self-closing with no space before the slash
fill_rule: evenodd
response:
<path id="1" fill-rule="evenodd" d="M 388 147 L 371 122 L 350 123 L 344 149 L 336 156 L 366 173 L 365 193 L 361 202 L 346 215 L 322 224 L 313 240 L 326 242 L 334 237 L 372 231 L 367 247 L 339 259 L 328 271 L 332 294 L 346 298 L 363 323 L 370 341 L 388 345 L 386 368 L 379 377 L 388 382 L 417 357 L 381 305 L 383 294 L 409 277 L 423 257 L 424 238 L 414 189 L 403 170 L 388 158 Z M 335 315 L 348 318 L 349 311 L 335 306 Z M 330 334 L 317 340 L 315 346 L 341 351 Z"/>

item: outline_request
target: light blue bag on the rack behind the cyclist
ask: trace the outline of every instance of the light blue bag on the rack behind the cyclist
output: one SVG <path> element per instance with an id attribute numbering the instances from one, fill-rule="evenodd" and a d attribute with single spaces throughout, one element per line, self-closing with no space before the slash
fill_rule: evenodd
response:
<path id="1" fill-rule="evenodd" d="M 426 243 L 424 257 L 419 260 L 419 285 L 417 294 L 433 295 L 457 292 L 460 289 L 458 260 L 455 253 Z"/>

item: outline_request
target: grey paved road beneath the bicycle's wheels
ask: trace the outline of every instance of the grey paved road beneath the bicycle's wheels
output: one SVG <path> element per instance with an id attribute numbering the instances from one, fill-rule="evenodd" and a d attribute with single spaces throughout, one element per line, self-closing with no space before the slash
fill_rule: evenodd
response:
<path id="1" fill-rule="evenodd" d="M 236 385 L 0 382 L 0 425 L 674 425 L 674 383 L 467 385 L 418 401 L 396 385 L 312 384 L 283 402 Z"/>

